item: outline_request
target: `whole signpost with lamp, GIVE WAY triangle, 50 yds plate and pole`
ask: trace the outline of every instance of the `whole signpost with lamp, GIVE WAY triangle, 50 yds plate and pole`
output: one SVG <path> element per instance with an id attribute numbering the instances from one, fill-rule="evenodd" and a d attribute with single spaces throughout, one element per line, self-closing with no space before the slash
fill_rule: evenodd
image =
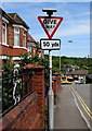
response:
<path id="1" fill-rule="evenodd" d="M 54 93 L 52 88 L 52 49 L 58 49 L 61 40 L 51 39 L 60 26 L 63 17 L 51 16 L 55 9 L 43 9 L 49 16 L 38 16 L 40 24 L 45 31 L 49 39 L 41 39 L 42 49 L 49 49 L 49 60 L 50 60 L 50 88 L 49 88 L 49 129 L 54 129 Z M 52 41 L 53 40 L 53 41 Z M 60 66 L 61 68 L 61 66 Z"/>

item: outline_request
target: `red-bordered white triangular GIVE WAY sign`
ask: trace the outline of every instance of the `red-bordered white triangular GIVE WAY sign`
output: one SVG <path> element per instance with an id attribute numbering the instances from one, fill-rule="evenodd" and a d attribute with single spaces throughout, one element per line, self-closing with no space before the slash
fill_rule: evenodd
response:
<path id="1" fill-rule="evenodd" d="M 52 38 L 57 27 L 60 26 L 63 17 L 60 16 L 38 16 L 43 29 L 45 31 L 49 38 Z"/>

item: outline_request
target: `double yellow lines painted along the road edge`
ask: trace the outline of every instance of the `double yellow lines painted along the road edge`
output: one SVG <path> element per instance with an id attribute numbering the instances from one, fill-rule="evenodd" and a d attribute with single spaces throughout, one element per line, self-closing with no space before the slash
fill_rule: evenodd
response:
<path id="1" fill-rule="evenodd" d="M 84 111 L 88 114 L 88 116 L 90 117 L 90 119 L 92 119 L 92 111 L 90 110 L 90 108 L 87 106 L 87 104 L 84 103 L 84 100 L 81 98 L 81 96 L 78 94 L 78 92 L 71 87 L 74 94 L 76 95 L 76 97 L 78 98 L 78 100 L 80 102 L 82 108 L 84 109 Z"/>

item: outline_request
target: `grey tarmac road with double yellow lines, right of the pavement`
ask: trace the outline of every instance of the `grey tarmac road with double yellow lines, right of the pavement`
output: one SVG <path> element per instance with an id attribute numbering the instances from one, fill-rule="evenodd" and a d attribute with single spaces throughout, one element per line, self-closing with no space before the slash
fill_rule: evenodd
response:
<path id="1" fill-rule="evenodd" d="M 92 111 L 91 111 L 91 85 L 79 84 L 71 87 L 74 95 L 78 103 L 78 109 L 86 120 L 88 127 L 91 129 Z"/>

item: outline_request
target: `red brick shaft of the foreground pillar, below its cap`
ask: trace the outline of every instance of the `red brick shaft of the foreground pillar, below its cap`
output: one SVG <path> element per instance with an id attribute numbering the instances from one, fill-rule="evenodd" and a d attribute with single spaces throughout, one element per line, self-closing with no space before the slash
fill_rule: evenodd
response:
<path id="1" fill-rule="evenodd" d="M 39 112 L 44 116 L 44 71 L 41 69 L 36 69 L 34 71 L 35 74 L 32 75 L 32 88 L 38 94 Z"/>

